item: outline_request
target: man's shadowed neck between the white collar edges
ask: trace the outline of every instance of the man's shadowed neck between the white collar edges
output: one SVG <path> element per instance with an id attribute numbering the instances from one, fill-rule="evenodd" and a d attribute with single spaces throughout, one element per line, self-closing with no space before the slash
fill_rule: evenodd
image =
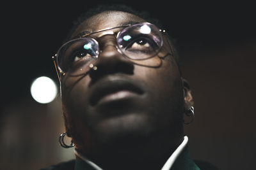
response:
<path id="1" fill-rule="evenodd" d="M 155 136 L 147 143 L 122 145 L 122 148 L 112 146 L 98 154 L 84 154 L 86 158 L 102 169 L 161 169 L 170 155 L 182 143 L 183 135 L 179 138 L 166 139 L 162 135 Z M 79 158 L 77 158 L 79 159 Z"/>

